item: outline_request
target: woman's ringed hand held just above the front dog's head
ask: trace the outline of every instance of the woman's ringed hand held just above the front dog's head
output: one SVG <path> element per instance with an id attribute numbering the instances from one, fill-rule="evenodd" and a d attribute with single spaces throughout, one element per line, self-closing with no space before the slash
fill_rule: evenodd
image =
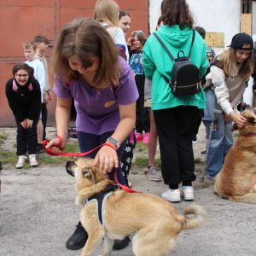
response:
<path id="1" fill-rule="evenodd" d="M 91 166 L 96 166 L 97 163 L 100 163 L 100 172 L 111 172 L 113 170 L 113 166 L 119 166 L 119 159 L 116 151 L 111 147 L 103 146 L 96 154 L 96 157 Z"/>

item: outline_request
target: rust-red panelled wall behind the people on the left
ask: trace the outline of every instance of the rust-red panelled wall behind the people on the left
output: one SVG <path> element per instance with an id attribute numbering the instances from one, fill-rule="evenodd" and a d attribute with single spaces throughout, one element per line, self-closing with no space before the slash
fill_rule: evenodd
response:
<path id="1" fill-rule="evenodd" d="M 131 30 L 143 30 L 148 36 L 148 0 L 116 0 L 119 9 L 131 15 Z M 0 126 L 15 126 L 13 113 L 5 96 L 5 84 L 12 78 L 12 67 L 17 62 L 26 61 L 22 43 L 33 40 L 42 34 L 50 44 L 55 44 L 56 34 L 67 22 L 80 17 L 93 18 L 96 0 L 1 0 L 0 4 Z M 139 26 L 138 26 L 139 24 Z M 127 38 L 131 34 L 127 35 Z M 53 79 L 50 74 L 50 62 L 53 47 L 48 49 L 46 59 L 49 65 L 50 85 Z M 48 105 L 48 123 L 55 125 L 56 98 Z"/>

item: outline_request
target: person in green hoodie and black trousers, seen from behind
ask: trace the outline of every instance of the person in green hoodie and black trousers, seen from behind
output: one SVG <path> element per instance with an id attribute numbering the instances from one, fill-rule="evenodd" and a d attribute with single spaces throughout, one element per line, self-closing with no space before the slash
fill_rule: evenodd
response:
<path id="1" fill-rule="evenodd" d="M 189 55 L 192 42 L 193 17 L 185 0 L 164 0 L 161 4 L 163 26 L 156 34 L 176 58 L 183 50 Z M 207 71 L 207 49 L 204 40 L 195 32 L 190 61 L 200 69 L 201 77 Z M 196 129 L 198 109 L 206 108 L 204 92 L 176 97 L 163 75 L 171 80 L 174 62 L 158 40 L 151 35 L 143 49 L 143 67 L 147 79 L 152 80 L 152 110 L 159 135 L 161 172 L 169 188 L 161 197 L 167 201 L 194 200 L 192 181 L 195 181 L 195 163 L 192 138 Z M 178 189 L 182 182 L 182 191 Z"/>

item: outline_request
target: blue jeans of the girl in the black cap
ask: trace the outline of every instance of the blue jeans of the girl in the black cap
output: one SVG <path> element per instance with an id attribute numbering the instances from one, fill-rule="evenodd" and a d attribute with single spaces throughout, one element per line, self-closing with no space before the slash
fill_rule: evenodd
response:
<path id="1" fill-rule="evenodd" d="M 210 127 L 212 123 L 212 110 L 214 108 L 214 101 L 216 97 L 213 90 L 209 89 L 205 91 L 207 108 L 205 109 L 205 116 L 203 120 L 207 129 L 207 144 L 210 134 Z M 221 110 L 220 106 L 216 102 L 216 109 Z M 231 131 L 232 122 L 224 125 L 224 118 L 222 113 L 216 113 L 212 131 L 212 139 L 210 143 L 210 149 L 207 159 L 207 173 L 211 177 L 216 177 L 221 170 L 225 156 L 233 146 L 233 134 Z"/>

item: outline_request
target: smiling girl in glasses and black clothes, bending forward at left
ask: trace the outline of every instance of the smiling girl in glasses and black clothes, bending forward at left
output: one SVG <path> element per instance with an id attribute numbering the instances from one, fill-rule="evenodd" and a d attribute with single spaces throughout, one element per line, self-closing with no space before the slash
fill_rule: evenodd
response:
<path id="1" fill-rule="evenodd" d="M 26 63 L 17 63 L 13 67 L 13 79 L 5 86 L 9 108 L 15 115 L 17 123 L 17 155 L 16 168 L 26 162 L 26 145 L 30 166 L 38 166 L 36 152 L 38 146 L 37 125 L 41 111 L 41 91 L 36 79 L 33 79 L 31 67 Z"/>

